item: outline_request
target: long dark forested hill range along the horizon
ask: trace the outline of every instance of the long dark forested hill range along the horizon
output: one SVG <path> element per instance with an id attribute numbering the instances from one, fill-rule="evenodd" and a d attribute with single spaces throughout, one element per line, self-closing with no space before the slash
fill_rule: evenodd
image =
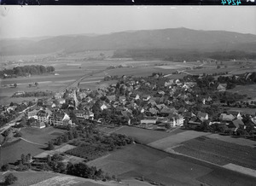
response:
<path id="1" fill-rule="evenodd" d="M 185 49 L 191 51 L 253 52 L 256 35 L 224 31 L 197 31 L 187 28 L 115 32 L 97 36 L 59 36 L 42 40 L 0 41 L 0 55 L 44 54 L 65 50 L 78 52 L 101 49 Z"/>

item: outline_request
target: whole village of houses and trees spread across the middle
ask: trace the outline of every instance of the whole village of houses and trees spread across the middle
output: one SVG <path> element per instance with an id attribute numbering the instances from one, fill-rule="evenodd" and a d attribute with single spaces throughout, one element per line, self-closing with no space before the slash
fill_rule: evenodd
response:
<path id="1" fill-rule="evenodd" d="M 253 77 L 253 73 L 236 78 L 247 77 L 249 81 L 250 76 Z M 210 85 L 202 89 L 202 82 L 209 79 Z M 183 79 L 166 78 L 161 73 L 147 78 L 122 76 L 108 88 L 83 90 L 77 87 L 55 93 L 48 99 L 4 106 L 1 115 L 18 110 L 24 115 L 15 125 L 36 128 L 48 125 L 65 128 L 84 125 L 90 120 L 108 127 L 129 125 L 166 132 L 182 127 L 255 138 L 255 113 L 224 109 L 230 104 L 237 108 L 255 108 L 255 102 L 241 102 L 244 97 L 237 94 L 232 99 L 232 94 L 226 92 L 228 85 L 208 75 Z M 223 96 L 229 98 L 223 102 Z"/>

